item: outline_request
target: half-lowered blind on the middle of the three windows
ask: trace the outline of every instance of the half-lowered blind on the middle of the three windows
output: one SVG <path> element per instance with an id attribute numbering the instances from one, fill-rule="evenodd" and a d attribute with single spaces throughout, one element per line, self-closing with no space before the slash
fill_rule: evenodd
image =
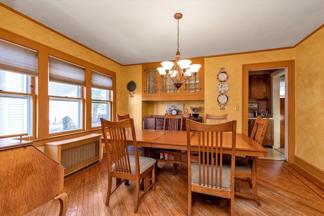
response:
<path id="1" fill-rule="evenodd" d="M 61 82 L 85 86 L 85 67 L 49 56 L 49 79 L 52 82 Z"/>

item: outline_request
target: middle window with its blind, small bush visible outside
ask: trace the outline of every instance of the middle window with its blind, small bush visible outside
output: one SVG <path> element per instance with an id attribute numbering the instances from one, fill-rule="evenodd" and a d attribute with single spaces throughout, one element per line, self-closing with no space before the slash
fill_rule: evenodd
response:
<path id="1" fill-rule="evenodd" d="M 85 68 L 49 57 L 49 132 L 83 128 Z"/>

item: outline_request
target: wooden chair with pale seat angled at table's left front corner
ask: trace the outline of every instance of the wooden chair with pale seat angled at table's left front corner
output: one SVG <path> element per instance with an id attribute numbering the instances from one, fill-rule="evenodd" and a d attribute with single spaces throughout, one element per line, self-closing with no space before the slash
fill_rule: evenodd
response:
<path id="1" fill-rule="evenodd" d="M 134 129 L 134 120 L 132 118 L 124 121 L 108 121 L 100 118 L 102 134 L 109 133 L 109 143 L 112 146 L 112 154 L 107 154 L 108 162 L 108 189 L 106 205 L 109 204 L 111 194 L 125 180 L 136 182 L 136 197 L 134 213 L 137 212 L 139 201 L 150 190 L 155 190 L 155 162 L 156 160 L 149 157 L 138 156 L 136 134 Z M 127 132 L 127 128 L 131 131 Z M 126 134 L 131 133 L 133 141 L 129 143 Z M 106 149 L 108 147 L 108 138 L 103 136 Z M 130 155 L 128 145 L 133 145 L 135 154 Z M 111 191 L 112 178 L 116 178 L 116 188 Z M 151 181 L 150 181 L 151 178 Z M 140 181 L 144 179 L 144 190 L 140 192 Z"/>

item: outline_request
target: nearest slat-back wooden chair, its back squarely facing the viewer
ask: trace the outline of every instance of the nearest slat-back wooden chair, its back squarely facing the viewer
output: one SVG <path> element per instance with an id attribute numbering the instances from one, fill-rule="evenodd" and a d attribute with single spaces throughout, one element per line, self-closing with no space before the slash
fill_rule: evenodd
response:
<path id="1" fill-rule="evenodd" d="M 227 198 L 230 213 L 234 215 L 236 121 L 206 124 L 186 120 L 186 130 L 188 215 L 191 215 L 192 192 Z M 222 162 L 223 133 L 232 133 L 230 166 L 223 166 Z M 197 156 L 189 156 L 192 151 L 198 152 Z"/>

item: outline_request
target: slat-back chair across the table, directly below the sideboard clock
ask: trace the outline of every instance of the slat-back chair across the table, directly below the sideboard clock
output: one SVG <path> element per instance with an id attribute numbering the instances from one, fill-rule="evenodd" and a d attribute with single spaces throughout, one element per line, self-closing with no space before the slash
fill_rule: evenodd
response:
<path id="1" fill-rule="evenodd" d="M 165 114 L 163 129 L 165 131 L 182 131 L 183 114 Z M 173 174 L 177 175 L 179 164 L 187 164 L 187 152 L 171 149 L 156 149 L 156 161 L 173 163 Z M 162 155 L 162 157 L 161 157 Z"/>

